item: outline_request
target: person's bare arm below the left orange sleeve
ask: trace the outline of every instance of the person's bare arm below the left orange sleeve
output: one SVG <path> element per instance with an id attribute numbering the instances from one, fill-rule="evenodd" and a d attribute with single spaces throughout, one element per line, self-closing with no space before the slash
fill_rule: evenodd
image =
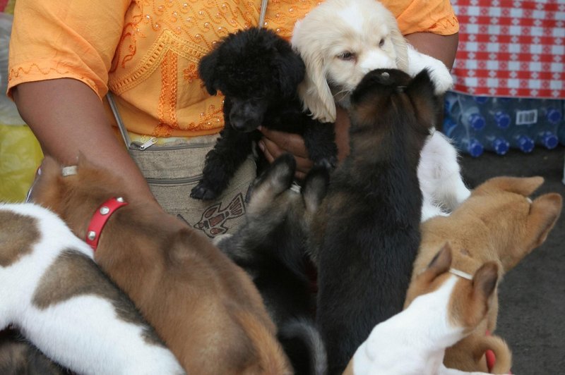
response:
<path id="1" fill-rule="evenodd" d="M 71 78 L 26 82 L 13 88 L 13 99 L 45 155 L 72 165 L 82 152 L 89 161 L 124 178 L 132 195 L 154 200 L 90 87 Z"/>

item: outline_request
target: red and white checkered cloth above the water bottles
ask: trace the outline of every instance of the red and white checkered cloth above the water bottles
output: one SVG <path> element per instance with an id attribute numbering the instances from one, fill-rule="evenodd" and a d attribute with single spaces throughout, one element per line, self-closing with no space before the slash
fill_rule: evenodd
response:
<path id="1" fill-rule="evenodd" d="M 564 0 L 452 0 L 460 24 L 454 91 L 565 98 Z"/>

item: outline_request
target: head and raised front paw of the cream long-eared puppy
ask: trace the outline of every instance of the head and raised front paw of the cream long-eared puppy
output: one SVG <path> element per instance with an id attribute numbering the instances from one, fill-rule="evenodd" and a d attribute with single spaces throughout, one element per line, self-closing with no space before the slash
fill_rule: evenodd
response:
<path id="1" fill-rule="evenodd" d="M 324 1 L 295 24 L 291 42 L 307 69 L 299 87 L 304 109 L 323 122 L 335 121 L 335 102 L 347 108 L 352 90 L 376 68 L 412 76 L 428 68 L 436 93 L 453 83 L 444 63 L 411 47 L 376 0 Z"/>

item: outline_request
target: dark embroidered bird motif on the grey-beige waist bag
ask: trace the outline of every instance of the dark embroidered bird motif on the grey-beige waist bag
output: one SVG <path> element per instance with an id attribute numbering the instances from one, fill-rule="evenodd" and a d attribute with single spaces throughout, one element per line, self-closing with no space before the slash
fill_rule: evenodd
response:
<path id="1" fill-rule="evenodd" d="M 239 193 L 232 199 L 227 207 L 221 209 L 222 202 L 213 204 L 208 207 L 198 223 L 194 224 L 194 228 L 202 230 L 208 237 L 214 238 L 227 232 L 225 227 L 226 221 L 235 219 L 245 214 L 244 200 L 242 193 Z"/>

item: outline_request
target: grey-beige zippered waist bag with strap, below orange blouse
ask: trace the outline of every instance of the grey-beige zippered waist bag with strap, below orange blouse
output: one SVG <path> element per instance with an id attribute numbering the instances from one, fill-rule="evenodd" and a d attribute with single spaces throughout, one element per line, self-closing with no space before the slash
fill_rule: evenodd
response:
<path id="1" fill-rule="evenodd" d="M 256 177 L 254 157 L 250 155 L 239 167 L 218 199 L 193 199 L 191 190 L 202 178 L 206 154 L 214 147 L 218 135 L 190 137 L 162 146 L 153 145 L 154 142 L 131 142 L 111 93 L 107 99 L 128 152 L 161 207 L 210 238 L 233 233 L 244 219 L 244 199 Z"/>

